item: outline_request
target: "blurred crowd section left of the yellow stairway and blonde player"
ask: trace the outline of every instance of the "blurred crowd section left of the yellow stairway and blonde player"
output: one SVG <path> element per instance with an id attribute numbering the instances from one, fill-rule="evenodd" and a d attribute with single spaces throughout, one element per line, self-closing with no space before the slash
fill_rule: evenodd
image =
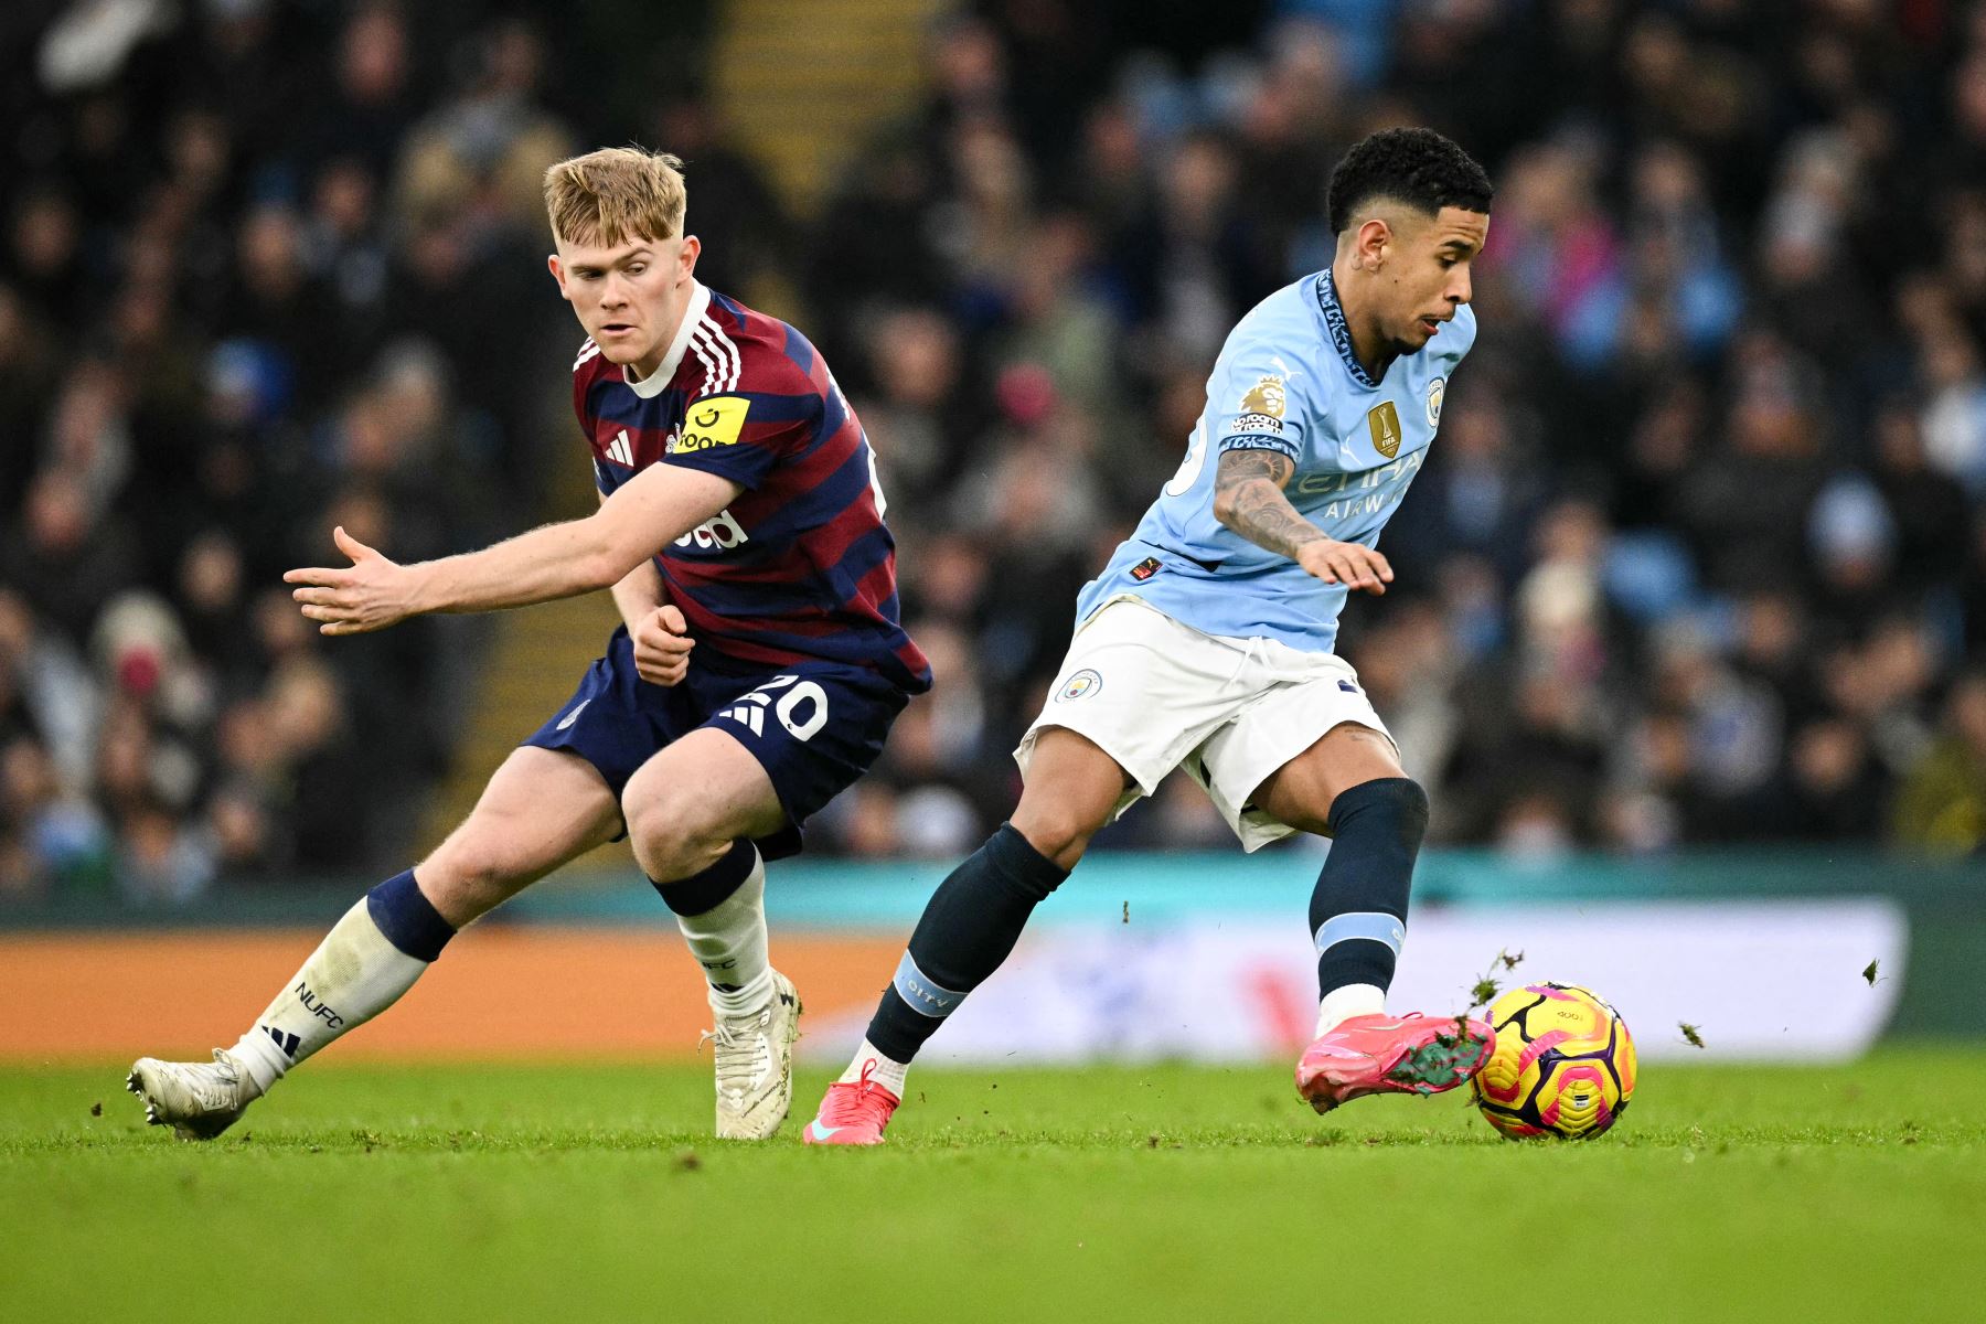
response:
<path id="1" fill-rule="evenodd" d="M 582 139 L 487 8 L 0 16 L 0 893 L 413 850 L 487 627 L 328 647 L 280 576 L 334 524 L 512 532 L 574 445 L 540 177 Z"/>

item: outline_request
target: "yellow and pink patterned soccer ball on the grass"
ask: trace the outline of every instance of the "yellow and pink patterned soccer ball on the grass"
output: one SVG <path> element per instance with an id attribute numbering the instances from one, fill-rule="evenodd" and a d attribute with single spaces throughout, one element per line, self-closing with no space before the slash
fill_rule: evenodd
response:
<path id="1" fill-rule="evenodd" d="M 1476 1106 L 1509 1139 L 1593 1139 L 1634 1094 L 1634 1040 L 1621 1012 L 1577 985 L 1525 985 L 1490 1004 L 1495 1052 Z"/>

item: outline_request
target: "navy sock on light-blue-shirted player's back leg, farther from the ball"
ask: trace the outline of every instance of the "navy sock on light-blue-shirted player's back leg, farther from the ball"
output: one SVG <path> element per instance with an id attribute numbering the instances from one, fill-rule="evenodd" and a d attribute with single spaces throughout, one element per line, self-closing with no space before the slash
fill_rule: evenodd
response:
<path id="1" fill-rule="evenodd" d="M 918 1056 L 965 994 L 999 969 L 1035 905 L 1064 877 L 1013 824 L 1001 824 L 931 893 L 876 1004 L 868 1042 L 896 1062 Z"/>

